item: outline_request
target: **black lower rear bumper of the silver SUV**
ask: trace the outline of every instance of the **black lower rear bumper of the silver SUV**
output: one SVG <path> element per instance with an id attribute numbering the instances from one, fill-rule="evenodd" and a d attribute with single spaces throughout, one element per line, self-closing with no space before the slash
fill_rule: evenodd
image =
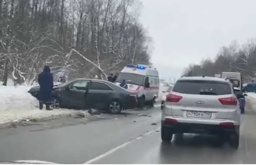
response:
<path id="1" fill-rule="evenodd" d="M 224 126 L 211 124 L 196 124 L 182 122 L 162 121 L 162 128 L 170 130 L 172 133 L 198 133 L 198 134 L 232 134 L 239 133 L 240 126 Z"/>

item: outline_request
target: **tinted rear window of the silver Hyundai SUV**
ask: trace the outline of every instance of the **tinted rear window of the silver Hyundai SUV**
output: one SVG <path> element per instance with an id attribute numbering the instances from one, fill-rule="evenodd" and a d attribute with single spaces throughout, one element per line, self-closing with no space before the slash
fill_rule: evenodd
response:
<path id="1" fill-rule="evenodd" d="M 192 95 L 228 95 L 232 93 L 229 83 L 205 80 L 179 80 L 172 91 Z"/>

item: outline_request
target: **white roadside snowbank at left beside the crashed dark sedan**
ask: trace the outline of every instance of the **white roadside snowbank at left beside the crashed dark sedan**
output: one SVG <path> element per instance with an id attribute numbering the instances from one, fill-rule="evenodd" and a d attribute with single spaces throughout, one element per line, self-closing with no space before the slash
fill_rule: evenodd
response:
<path id="1" fill-rule="evenodd" d="M 30 86 L 0 86 L 0 125 L 20 121 L 53 120 L 72 115 L 81 116 L 83 113 L 67 109 L 39 110 L 38 100 L 27 92 L 30 88 Z"/>

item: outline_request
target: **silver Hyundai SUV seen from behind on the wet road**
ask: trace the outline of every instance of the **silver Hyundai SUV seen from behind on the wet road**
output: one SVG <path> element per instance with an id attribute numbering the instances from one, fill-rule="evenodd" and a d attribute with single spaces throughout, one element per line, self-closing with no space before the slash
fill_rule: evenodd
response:
<path id="1" fill-rule="evenodd" d="M 229 80 L 217 77 L 182 77 L 162 102 L 161 138 L 176 133 L 220 135 L 239 146 L 240 108 Z"/>

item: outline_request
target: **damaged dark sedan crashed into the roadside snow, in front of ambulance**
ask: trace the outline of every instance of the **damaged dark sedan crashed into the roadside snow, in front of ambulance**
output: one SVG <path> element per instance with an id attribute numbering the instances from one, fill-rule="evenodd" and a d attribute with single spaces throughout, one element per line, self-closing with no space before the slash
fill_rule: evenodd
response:
<path id="1" fill-rule="evenodd" d="M 38 98 L 40 87 L 32 87 L 28 92 Z M 123 89 L 105 80 L 75 79 L 52 90 L 54 107 L 70 109 L 106 110 L 112 114 L 137 106 L 136 93 Z"/>

